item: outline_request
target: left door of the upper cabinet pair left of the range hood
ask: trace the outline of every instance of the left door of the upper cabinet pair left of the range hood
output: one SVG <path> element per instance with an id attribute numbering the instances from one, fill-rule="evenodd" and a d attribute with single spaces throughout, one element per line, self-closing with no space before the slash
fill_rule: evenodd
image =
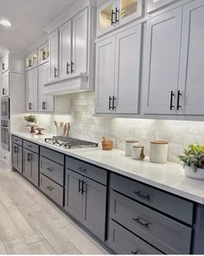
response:
<path id="1" fill-rule="evenodd" d="M 26 111 L 36 112 L 38 108 L 37 68 L 29 70 L 26 74 Z"/>

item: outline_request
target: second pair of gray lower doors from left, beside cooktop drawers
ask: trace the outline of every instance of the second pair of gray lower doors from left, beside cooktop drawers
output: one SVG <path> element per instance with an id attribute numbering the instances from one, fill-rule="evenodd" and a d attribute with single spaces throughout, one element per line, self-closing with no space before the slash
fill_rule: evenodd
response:
<path id="1" fill-rule="evenodd" d="M 23 148 L 23 171 L 22 175 L 38 187 L 39 183 L 39 154 Z"/>

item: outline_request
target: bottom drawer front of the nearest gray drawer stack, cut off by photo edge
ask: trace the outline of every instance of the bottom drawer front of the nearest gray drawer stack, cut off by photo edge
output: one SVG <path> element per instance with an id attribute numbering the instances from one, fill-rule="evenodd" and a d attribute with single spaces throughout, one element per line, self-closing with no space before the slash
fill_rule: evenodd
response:
<path id="1" fill-rule="evenodd" d="M 109 246 L 118 254 L 163 254 L 112 220 L 109 226 Z"/>

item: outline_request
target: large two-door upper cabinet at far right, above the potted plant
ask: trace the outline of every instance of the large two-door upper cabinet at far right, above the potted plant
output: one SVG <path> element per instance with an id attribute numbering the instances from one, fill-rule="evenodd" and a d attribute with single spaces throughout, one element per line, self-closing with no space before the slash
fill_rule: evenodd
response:
<path id="1" fill-rule="evenodd" d="M 204 2 L 147 22 L 144 114 L 204 115 Z"/>

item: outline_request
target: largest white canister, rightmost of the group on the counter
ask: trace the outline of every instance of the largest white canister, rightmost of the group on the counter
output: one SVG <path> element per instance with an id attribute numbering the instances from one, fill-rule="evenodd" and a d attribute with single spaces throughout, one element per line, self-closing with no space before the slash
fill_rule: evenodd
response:
<path id="1" fill-rule="evenodd" d="M 150 141 L 150 161 L 166 163 L 168 158 L 168 141 Z"/>

